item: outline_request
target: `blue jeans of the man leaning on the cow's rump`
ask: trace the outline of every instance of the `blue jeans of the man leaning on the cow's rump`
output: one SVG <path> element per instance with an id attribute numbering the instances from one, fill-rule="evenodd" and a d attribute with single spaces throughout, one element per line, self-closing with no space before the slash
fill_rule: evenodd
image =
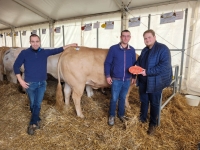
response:
<path id="1" fill-rule="evenodd" d="M 40 121 L 40 108 L 44 97 L 44 92 L 46 91 L 46 81 L 41 82 L 28 82 L 29 88 L 26 89 L 30 100 L 30 110 L 32 113 L 30 125 L 37 124 Z"/>

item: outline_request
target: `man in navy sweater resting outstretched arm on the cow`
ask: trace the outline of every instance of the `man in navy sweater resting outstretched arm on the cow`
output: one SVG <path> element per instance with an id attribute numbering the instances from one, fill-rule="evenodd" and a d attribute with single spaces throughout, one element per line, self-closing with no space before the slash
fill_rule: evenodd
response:
<path id="1" fill-rule="evenodd" d="M 47 58 L 63 52 L 64 49 L 77 44 L 69 44 L 64 47 L 44 50 L 40 48 L 40 37 L 36 34 L 30 36 L 30 48 L 21 51 L 18 55 L 13 69 L 21 86 L 26 89 L 30 100 L 31 120 L 28 126 L 28 134 L 33 135 L 39 129 L 40 108 L 46 90 L 47 79 Z M 24 64 L 23 80 L 20 74 L 20 67 Z"/>

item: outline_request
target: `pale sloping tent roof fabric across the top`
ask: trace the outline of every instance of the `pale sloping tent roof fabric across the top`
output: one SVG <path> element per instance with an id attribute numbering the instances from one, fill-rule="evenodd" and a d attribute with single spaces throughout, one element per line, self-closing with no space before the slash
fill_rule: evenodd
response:
<path id="1" fill-rule="evenodd" d="M 129 8 L 187 0 L 0 0 L 0 30 Z"/>

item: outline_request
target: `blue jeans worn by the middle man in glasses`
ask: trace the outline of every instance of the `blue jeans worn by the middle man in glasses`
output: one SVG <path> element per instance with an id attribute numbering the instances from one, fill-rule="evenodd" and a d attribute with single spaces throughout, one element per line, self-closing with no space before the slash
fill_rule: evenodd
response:
<path id="1" fill-rule="evenodd" d="M 118 116 L 122 117 L 125 113 L 125 99 L 131 80 L 112 79 L 111 100 L 110 100 L 110 116 L 115 116 L 116 103 L 118 101 Z"/>

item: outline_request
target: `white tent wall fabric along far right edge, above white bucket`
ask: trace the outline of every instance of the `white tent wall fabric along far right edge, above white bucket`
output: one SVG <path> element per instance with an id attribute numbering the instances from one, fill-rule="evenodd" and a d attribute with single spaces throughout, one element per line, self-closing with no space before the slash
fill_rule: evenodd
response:
<path id="1" fill-rule="evenodd" d="M 185 93 L 199 95 L 200 96 L 200 0 L 195 5 L 194 17 L 192 17 L 192 43 L 190 52 L 188 53 L 187 59 L 189 59 L 188 70 L 186 73 L 185 81 Z"/>

